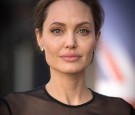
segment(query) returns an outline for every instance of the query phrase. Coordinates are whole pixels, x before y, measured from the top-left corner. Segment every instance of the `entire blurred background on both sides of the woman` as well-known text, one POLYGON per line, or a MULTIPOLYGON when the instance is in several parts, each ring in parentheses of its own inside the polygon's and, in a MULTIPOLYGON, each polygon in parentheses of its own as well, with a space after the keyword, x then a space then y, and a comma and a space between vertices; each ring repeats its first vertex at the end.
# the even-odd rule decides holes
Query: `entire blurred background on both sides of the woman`
MULTIPOLYGON (((105 22, 86 83, 99 93, 122 97, 134 105, 135 1, 100 1, 105 22)), ((31 90, 49 80, 49 68, 37 50, 34 34, 32 13, 37 2, 0 1, 0 96, 31 90)))

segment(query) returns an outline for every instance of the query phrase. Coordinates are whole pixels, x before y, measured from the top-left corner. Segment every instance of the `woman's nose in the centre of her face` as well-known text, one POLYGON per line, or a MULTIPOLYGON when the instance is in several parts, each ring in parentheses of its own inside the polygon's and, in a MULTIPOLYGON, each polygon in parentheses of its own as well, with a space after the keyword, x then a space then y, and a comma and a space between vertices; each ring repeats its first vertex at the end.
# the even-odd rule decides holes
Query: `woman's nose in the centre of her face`
POLYGON ((77 39, 73 33, 69 33, 67 36, 65 36, 65 48, 77 48, 77 39))

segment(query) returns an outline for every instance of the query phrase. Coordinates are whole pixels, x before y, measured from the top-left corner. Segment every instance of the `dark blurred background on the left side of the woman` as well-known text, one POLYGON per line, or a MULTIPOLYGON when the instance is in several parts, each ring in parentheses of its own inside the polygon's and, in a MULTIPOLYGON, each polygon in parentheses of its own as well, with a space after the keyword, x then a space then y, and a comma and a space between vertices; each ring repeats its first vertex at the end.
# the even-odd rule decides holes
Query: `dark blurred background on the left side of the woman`
POLYGON ((32 14, 36 3, 0 1, 0 95, 30 90, 49 80, 48 66, 35 40, 32 14))

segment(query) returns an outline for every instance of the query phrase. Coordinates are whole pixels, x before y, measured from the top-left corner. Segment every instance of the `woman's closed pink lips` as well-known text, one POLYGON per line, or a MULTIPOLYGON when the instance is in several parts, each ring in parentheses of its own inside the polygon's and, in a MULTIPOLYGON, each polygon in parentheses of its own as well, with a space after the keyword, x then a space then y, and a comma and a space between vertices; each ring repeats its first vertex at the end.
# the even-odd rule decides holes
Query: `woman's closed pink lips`
POLYGON ((78 54, 64 54, 60 56, 62 60, 67 62, 77 61, 81 56, 78 54))

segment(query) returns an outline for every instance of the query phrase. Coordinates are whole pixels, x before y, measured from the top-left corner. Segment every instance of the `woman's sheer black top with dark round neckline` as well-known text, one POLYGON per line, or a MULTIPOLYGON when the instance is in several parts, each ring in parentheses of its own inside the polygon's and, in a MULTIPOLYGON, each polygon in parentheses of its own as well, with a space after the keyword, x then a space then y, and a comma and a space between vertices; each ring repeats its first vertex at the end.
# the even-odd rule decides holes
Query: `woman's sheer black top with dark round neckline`
POLYGON ((44 87, 11 93, 0 100, 0 115, 135 115, 133 107, 121 98, 92 94, 92 100, 73 106, 54 99, 44 87))

